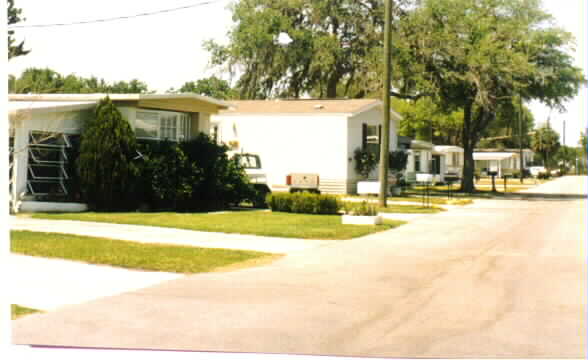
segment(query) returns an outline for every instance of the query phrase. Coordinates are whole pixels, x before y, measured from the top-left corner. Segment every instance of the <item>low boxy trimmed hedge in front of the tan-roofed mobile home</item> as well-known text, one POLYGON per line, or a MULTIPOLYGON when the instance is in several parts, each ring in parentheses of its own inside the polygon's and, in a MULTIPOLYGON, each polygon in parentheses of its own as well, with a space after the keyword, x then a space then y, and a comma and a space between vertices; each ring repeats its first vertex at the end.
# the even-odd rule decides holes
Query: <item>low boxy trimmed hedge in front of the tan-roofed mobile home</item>
POLYGON ((307 192, 269 194, 266 202, 272 211, 298 214, 333 215, 338 214, 341 208, 335 196, 307 192))

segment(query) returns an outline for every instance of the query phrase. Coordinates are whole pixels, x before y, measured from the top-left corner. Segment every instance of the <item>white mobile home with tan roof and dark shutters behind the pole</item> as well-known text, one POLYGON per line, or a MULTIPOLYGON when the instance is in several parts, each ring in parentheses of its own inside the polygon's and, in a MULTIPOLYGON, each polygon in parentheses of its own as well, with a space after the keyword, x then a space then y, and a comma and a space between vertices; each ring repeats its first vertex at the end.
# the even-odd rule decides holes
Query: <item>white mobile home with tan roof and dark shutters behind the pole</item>
MULTIPOLYGON (((272 191, 286 191, 291 173, 319 175, 323 193, 355 193, 357 148, 379 152, 384 118, 382 102, 360 100, 231 101, 212 116, 211 134, 232 150, 261 157, 272 191)), ((396 149, 391 111, 390 150, 396 149)), ((377 169, 370 175, 376 178, 377 169)))

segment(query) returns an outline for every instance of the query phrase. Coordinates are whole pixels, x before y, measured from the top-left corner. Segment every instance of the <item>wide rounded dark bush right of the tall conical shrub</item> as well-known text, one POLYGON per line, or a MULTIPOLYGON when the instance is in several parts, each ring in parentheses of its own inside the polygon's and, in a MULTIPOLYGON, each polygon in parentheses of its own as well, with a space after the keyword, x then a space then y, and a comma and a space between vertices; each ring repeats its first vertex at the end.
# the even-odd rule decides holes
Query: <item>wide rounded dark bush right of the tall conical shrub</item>
POLYGON ((193 140, 142 142, 136 196, 152 209, 211 211, 252 197, 244 169, 207 135, 193 140))

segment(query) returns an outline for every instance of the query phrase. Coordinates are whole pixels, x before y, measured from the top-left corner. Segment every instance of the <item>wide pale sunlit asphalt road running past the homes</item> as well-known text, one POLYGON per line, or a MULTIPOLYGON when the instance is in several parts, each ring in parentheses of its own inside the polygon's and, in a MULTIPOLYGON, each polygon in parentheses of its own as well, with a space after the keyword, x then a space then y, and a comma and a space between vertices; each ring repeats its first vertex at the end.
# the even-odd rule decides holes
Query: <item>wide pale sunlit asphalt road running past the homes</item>
POLYGON ((12 322, 13 342, 585 357, 587 180, 558 179, 533 191, 551 196, 480 201, 260 268, 188 276, 28 316, 12 322))

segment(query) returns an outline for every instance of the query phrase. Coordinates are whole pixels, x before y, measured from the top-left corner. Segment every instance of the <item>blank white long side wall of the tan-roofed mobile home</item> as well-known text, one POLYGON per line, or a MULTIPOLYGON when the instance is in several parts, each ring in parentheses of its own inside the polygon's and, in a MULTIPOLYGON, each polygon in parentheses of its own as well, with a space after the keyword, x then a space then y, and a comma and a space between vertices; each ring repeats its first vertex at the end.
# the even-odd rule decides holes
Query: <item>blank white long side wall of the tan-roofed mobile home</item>
POLYGON ((220 141, 238 140, 239 151, 260 155, 274 190, 286 185, 289 173, 318 173, 321 182, 346 178, 343 116, 213 115, 212 121, 220 141))

